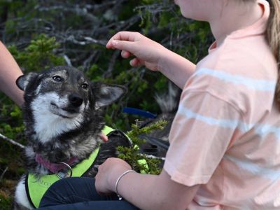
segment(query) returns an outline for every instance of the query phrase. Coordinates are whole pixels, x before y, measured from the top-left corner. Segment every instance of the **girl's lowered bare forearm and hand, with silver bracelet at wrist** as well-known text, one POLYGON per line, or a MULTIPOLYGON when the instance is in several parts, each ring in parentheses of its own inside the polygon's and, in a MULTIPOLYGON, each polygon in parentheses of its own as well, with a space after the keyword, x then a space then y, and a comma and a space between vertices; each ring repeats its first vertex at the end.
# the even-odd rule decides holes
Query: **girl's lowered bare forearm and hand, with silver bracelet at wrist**
MULTIPOLYGON (((97 192, 116 193, 116 181, 127 169, 123 160, 107 159, 95 177, 97 192)), ((130 172, 118 182, 118 193, 140 209, 187 209, 199 187, 176 183, 165 170, 158 176, 130 172)))

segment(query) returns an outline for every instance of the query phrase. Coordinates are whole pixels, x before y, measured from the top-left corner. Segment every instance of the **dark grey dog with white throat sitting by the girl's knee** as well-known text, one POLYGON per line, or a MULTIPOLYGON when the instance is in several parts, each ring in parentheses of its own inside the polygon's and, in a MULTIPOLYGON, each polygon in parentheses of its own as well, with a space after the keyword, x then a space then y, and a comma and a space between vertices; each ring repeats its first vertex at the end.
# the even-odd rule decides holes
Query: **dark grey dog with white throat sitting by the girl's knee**
MULTIPOLYGON (((89 158, 102 142, 102 107, 126 92, 120 85, 90 82, 81 71, 69 66, 27 73, 16 83, 25 92, 22 109, 27 172, 38 180, 45 174, 67 176, 69 168, 89 158)), ((106 144, 101 144, 94 166, 116 157, 116 146, 120 145, 130 146, 130 142, 121 133, 109 137, 106 144)), ((92 167, 86 176, 96 173, 96 167, 92 167)), ((27 197, 25 178, 22 177, 15 190, 15 209, 34 208, 27 197)))

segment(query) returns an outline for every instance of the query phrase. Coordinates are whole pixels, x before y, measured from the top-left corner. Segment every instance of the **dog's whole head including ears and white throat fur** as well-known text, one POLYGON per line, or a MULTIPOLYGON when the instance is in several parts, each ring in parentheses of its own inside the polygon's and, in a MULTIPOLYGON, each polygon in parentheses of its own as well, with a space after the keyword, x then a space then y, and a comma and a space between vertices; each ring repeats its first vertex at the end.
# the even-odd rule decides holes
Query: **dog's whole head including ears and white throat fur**
POLYGON ((25 111, 31 112, 27 121, 34 120, 41 141, 81 128, 90 118, 101 123, 100 108, 126 92, 120 85, 91 82, 82 71, 69 66, 27 73, 16 83, 25 92, 25 111))

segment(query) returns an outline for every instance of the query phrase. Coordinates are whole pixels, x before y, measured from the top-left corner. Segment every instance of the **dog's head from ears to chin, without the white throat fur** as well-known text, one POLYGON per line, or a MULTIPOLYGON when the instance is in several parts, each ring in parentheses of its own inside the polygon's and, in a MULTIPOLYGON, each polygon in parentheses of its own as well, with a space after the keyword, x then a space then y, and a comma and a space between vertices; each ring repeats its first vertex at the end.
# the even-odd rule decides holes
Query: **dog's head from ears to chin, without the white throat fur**
MULTIPOLYGON (((51 113, 62 118, 73 118, 87 106, 99 109, 120 98, 125 87, 93 83, 83 72, 69 66, 57 66, 42 73, 27 73, 16 81, 25 91, 25 101, 41 97, 51 113)), ((43 105, 43 104, 42 104, 43 105)))

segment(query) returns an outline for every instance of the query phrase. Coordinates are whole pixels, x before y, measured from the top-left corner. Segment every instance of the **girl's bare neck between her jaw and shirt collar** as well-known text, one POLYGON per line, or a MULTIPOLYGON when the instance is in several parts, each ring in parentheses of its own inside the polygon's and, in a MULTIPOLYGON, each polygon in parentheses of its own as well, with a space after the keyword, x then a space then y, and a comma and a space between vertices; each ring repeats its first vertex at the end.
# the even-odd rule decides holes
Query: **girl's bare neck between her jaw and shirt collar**
POLYGON ((243 29, 262 17, 262 7, 257 1, 237 2, 228 1, 223 6, 220 14, 214 15, 209 20, 211 31, 217 42, 217 46, 223 43, 226 36, 233 31, 243 29))

